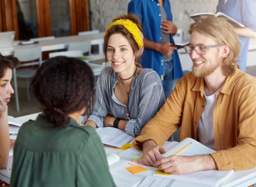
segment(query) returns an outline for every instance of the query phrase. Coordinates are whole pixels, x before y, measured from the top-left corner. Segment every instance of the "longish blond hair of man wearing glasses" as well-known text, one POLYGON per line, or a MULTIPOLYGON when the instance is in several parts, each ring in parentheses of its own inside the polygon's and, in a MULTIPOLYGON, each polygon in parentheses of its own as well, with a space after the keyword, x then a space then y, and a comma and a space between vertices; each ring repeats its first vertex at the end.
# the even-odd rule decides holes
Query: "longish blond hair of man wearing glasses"
POLYGON ((235 69, 239 68, 237 62, 239 61, 238 55, 241 48, 239 36, 234 27, 225 19, 207 17, 191 24, 188 33, 191 34, 194 30, 214 39, 217 44, 227 44, 230 47, 230 53, 223 58, 222 70, 223 75, 232 75, 235 69))

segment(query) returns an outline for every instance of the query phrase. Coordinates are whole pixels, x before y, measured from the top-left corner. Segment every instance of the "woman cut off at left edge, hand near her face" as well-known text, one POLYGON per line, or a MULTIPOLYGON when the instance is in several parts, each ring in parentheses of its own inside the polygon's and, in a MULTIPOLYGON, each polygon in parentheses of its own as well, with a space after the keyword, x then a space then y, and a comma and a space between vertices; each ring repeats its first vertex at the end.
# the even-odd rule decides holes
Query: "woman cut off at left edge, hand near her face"
POLYGON ((14 93, 10 84, 12 69, 18 64, 16 57, 4 57, 0 54, 0 169, 6 168, 9 150, 14 143, 9 135, 7 103, 10 102, 10 95, 14 93))

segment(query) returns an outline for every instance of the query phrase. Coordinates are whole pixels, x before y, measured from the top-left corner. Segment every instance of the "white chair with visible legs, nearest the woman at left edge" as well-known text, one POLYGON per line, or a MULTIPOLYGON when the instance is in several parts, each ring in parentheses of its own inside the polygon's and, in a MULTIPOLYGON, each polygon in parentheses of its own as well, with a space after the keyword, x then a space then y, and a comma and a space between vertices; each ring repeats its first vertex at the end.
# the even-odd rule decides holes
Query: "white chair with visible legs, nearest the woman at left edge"
POLYGON ((19 48, 15 49, 14 54, 15 57, 19 59, 20 62, 23 62, 19 69, 13 69, 12 70, 12 77, 15 87, 15 101, 16 101, 16 109, 17 112, 19 112, 19 97, 18 97, 18 89, 17 89, 17 78, 26 78, 26 92, 28 96, 28 100, 30 100, 29 96, 29 83, 28 78, 32 78, 35 73, 36 69, 33 69, 28 66, 34 66, 34 65, 41 65, 42 64, 42 51, 41 46, 33 47, 33 48, 19 48), (28 62, 28 61, 35 61, 36 62, 28 62), (24 68, 28 67, 28 68, 24 68), (20 69, 22 68, 22 69, 20 69))

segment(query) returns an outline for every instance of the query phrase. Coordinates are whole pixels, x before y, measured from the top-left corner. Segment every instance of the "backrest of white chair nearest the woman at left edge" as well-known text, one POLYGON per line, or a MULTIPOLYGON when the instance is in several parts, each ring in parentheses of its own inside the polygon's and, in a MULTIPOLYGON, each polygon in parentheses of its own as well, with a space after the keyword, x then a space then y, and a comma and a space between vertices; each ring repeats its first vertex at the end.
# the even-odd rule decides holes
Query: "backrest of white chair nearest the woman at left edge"
POLYGON ((17 48, 15 49, 13 55, 17 57, 20 62, 39 60, 38 62, 30 62, 30 63, 22 64, 21 66, 32 66, 35 64, 41 65, 42 63, 41 46, 29 47, 29 48, 17 48))

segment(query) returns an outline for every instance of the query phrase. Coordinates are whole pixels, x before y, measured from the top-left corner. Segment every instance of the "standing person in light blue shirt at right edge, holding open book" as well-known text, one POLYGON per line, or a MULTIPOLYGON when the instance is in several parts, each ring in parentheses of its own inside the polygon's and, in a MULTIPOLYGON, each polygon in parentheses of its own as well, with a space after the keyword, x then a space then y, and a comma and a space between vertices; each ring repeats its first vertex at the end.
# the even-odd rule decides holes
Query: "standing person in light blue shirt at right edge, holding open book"
POLYGON ((256 37, 256 1, 219 0, 217 12, 223 12, 246 26, 246 28, 235 28, 241 43, 239 69, 241 69, 241 71, 246 71, 250 37, 256 37))

